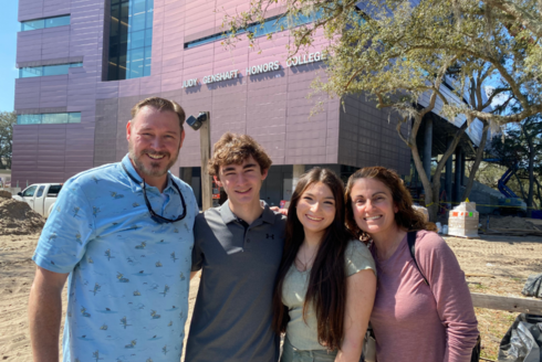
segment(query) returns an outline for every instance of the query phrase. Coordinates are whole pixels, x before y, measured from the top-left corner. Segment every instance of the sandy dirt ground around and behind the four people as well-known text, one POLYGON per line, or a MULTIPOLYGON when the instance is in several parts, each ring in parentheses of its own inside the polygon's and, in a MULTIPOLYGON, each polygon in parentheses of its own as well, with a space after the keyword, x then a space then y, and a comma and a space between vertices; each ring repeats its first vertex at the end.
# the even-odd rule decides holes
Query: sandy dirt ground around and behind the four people
MULTIPOLYGON (((540 221, 535 221, 540 223, 540 221)), ((542 224, 542 223, 540 223, 542 224)), ((0 360, 31 361, 27 306, 34 274, 31 256, 39 234, 0 235, 0 360)), ((468 277, 471 291, 522 297, 530 274, 542 272, 542 237, 482 236, 476 239, 446 237, 468 277), (491 277, 489 277, 491 276, 491 277)), ((190 285, 190 315, 199 278, 190 285)), ((65 305, 65 296, 64 296, 65 305)), ((501 338, 514 313, 476 310, 482 337, 482 356, 497 360, 501 338)), ((187 323, 188 326, 188 323, 187 323)))

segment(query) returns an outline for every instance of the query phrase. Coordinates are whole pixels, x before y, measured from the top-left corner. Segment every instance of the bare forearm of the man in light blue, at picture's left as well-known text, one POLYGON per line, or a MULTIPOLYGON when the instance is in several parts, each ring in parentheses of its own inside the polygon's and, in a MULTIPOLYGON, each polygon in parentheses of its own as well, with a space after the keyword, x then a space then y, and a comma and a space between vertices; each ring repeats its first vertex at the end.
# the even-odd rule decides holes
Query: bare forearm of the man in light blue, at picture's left
POLYGON ((62 289, 67 274, 37 267, 30 289, 29 324, 34 362, 59 361, 62 289))

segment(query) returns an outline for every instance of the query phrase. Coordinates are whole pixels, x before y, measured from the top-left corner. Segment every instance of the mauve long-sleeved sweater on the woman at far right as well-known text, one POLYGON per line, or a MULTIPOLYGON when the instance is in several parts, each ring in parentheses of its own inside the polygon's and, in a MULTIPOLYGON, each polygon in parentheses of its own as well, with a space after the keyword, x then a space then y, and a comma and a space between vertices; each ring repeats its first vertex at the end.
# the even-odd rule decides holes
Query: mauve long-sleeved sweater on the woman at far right
POLYGON ((446 242, 432 232, 417 234, 416 260, 429 286, 406 236, 387 260, 372 251, 378 278, 371 315, 377 361, 470 362, 478 322, 465 274, 446 242))

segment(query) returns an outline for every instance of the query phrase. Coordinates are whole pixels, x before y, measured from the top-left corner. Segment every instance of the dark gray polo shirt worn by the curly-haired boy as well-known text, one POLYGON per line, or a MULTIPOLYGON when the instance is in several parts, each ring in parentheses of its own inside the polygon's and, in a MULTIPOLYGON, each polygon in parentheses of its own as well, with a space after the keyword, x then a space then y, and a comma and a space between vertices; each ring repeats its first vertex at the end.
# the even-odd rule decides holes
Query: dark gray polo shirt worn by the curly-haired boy
POLYGON ((285 216, 268 206, 251 225, 228 201, 196 217, 191 270, 202 273, 186 362, 279 360, 271 321, 284 231, 285 216))

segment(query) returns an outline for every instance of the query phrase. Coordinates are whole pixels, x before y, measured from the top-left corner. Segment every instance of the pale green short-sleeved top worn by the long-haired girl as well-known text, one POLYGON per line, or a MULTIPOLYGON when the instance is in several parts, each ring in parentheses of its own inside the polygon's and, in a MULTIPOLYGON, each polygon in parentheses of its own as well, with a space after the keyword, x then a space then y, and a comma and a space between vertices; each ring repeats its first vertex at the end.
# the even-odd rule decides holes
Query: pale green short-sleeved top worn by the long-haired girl
MULTIPOLYGON (((365 269, 373 269, 376 274, 375 260, 362 242, 351 241, 344 256, 346 277, 365 269)), ((310 269, 299 272, 292 264, 282 284, 282 302, 288 307, 290 316, 286 336, 290 343, 299 350, 325 350, 325 347, 319 343, 316 315, 312 305, 308 306, 303 320, 303 304, 310 275, 310 269)))

